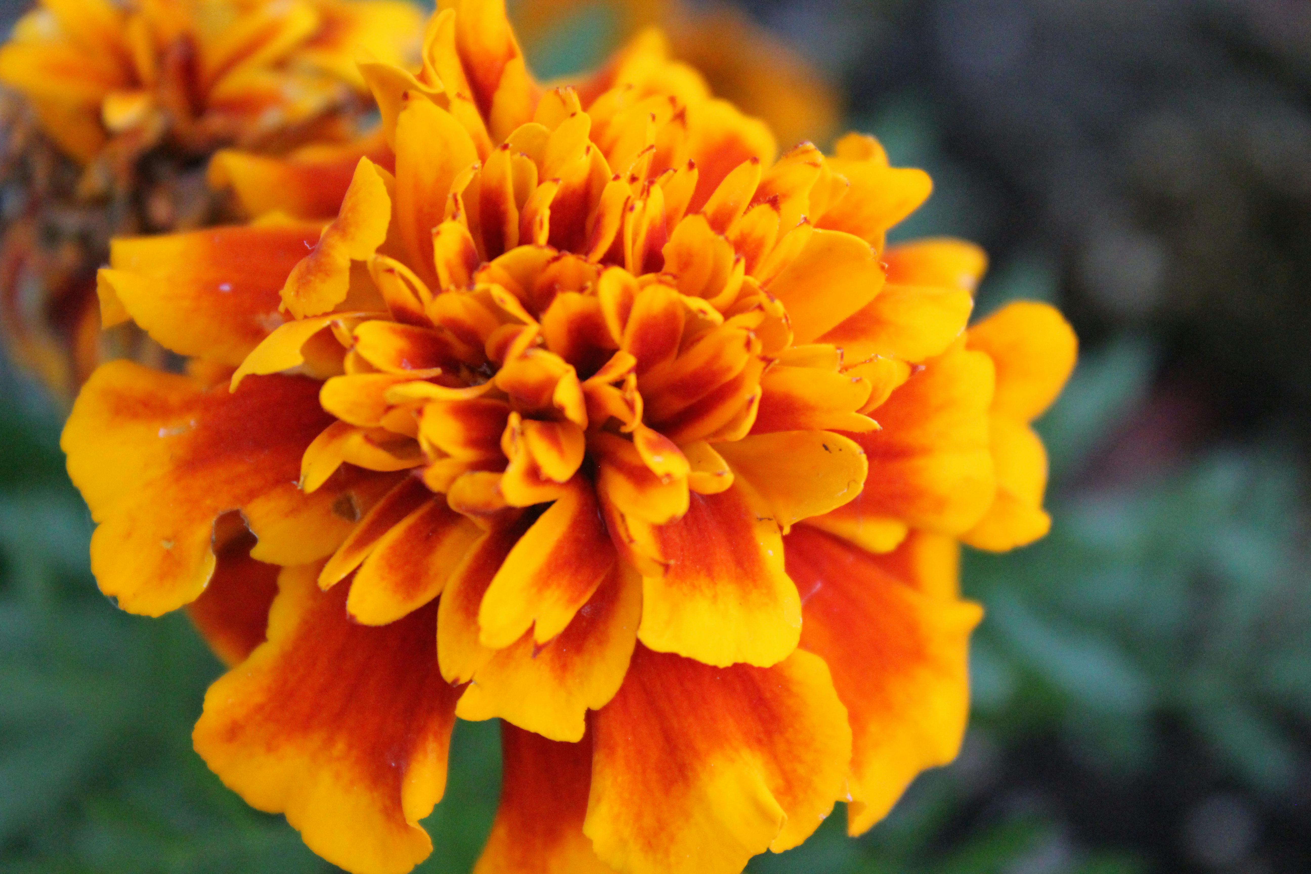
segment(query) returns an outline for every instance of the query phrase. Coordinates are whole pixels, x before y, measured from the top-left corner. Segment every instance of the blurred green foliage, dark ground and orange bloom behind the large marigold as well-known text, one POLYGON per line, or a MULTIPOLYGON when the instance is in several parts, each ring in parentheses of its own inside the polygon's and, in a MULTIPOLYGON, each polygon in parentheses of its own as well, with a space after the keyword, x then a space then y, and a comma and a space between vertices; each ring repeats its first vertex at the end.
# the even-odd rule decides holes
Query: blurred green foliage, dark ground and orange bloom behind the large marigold
MULTIPOLYGON (((663 20, 797 136, 877 135, 936 181, 898 236, 982 242, 978 313, 1050 300, 1083 339, 1038 426, 1051 536, 966 557, 987 618, 960 760, 863 839, 834 816, 749 870, 1311 871, 1311 3, 519 7, 544 75, 663 20)), ((97 594, 62 411, 12 368, 0 398, 0 870, 329 870, 191 752, 218 662, 97 594)), ((469 870, 497 756, 459 726, 423 874, 469 870)))

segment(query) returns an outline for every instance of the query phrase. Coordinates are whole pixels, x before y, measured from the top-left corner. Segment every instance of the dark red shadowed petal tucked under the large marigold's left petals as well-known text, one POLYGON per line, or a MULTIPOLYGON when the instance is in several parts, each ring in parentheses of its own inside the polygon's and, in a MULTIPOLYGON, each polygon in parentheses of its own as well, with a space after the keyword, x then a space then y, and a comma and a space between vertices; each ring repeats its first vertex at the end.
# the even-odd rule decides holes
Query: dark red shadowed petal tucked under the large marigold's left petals
POLYGON ((210 584, 186 605, 201 637, 229 667, 264 643, 269 605, 278 594, 281 569, 250 558, 254 542, 245 535, 219 549, 210 584))

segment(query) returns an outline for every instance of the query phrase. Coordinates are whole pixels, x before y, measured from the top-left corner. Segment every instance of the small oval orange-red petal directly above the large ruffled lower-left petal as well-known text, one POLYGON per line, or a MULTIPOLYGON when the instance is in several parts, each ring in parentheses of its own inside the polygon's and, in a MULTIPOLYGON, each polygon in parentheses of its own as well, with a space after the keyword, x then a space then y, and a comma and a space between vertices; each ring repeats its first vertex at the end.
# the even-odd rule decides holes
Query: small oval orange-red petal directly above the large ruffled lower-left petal
POLYGON ((387 625, 437 598, 481 531, 430 497, 378 540, 355 573, 346 611, 357 622, 387 625))

